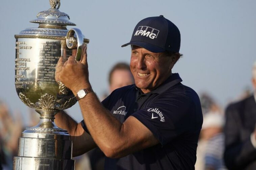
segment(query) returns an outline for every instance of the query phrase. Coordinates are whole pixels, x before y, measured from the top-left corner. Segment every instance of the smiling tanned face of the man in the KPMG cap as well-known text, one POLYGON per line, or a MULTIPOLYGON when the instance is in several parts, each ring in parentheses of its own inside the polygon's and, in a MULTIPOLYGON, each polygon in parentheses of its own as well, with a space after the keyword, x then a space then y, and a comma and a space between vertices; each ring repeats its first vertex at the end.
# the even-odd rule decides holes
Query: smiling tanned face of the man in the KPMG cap
POLYGON ((157 88, 170 75, 174 62, 163 53, 152 53, 149 50, 132 46, 130 69, 135 84, 143 93, 157 88))

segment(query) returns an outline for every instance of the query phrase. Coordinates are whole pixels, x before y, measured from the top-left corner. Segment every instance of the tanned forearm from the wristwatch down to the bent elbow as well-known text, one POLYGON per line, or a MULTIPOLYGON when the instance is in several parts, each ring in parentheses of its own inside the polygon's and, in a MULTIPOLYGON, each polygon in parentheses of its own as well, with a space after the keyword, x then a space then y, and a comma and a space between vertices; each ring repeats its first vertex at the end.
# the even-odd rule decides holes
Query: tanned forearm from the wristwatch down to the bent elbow
POLYGON ((111 155, 108 151, 121 145, 123 124, 102 106, 95 93, 88 93, 79 100, 79 105, 93 139, 105 155, 111 155))

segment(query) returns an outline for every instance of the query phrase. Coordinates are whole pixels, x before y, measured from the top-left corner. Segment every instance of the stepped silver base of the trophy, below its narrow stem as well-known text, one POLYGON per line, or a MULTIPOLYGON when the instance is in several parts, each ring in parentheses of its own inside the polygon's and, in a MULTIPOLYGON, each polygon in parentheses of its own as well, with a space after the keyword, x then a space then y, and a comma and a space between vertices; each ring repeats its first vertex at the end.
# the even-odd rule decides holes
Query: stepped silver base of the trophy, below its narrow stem
POLYGON ((27 128, 22 133, 13 169, 74 170, 72 141, 67 131, 59 128, 38 128, 39 125, 27 128))

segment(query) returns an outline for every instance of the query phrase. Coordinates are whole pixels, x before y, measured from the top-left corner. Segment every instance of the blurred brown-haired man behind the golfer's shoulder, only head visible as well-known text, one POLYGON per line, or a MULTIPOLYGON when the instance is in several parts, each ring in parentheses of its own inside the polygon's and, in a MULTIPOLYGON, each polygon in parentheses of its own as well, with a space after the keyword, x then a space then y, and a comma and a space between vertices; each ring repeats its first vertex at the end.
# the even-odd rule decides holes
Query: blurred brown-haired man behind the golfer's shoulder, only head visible
POLYGON ((134 79, 128 64, 117 63, 111 68, 108 76, 109 93, 133 83, 134 79))

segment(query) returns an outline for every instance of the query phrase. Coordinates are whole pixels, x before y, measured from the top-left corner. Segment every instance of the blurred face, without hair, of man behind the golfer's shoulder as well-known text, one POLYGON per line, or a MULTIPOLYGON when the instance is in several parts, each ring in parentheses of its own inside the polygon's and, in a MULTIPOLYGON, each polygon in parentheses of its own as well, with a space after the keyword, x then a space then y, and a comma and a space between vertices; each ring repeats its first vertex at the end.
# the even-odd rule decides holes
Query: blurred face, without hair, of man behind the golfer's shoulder
POLYGON ((130 70, 117 69, 114 70, 110 77, 109 92, 133 84, 134 80, 130 70))

